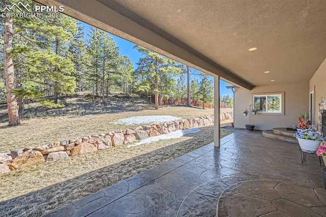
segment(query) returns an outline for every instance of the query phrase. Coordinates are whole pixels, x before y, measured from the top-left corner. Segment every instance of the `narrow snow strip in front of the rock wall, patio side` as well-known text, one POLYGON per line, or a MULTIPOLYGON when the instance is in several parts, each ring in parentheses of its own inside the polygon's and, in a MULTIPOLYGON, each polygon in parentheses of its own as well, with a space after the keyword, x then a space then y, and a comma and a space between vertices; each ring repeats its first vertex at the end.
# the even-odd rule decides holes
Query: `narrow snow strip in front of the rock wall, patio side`
POLYGON ((157 137, 149 137, 145 140, 142 140, 138 143, 132 144, 132 145, 128 145, 127 148, 133 147, 133 146, 139 146, 139 145, 143 145, 143 144, 149 144, 152 142, 157 142, 159 140, 169 140, 169 139, 176 139, 176 138, 180 138, 183 137, 183 135, 186 135, 188 133, 196 133, 199 132, 200 129, 199 127, 195 127, 195 128, 191 128, 191 129, 182 129, 182 130, 176 130, 174 132, 171 132, 169 134, 161 134, 161 135, 157 135, 157 137))

